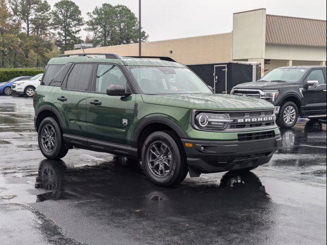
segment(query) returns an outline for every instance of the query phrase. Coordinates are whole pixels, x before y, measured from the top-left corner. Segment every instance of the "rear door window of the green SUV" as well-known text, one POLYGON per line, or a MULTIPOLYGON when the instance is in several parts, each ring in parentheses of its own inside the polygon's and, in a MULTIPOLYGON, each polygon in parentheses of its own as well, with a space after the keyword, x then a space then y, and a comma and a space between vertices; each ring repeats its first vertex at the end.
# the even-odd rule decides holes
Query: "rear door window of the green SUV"
POLYGON ((87 91, 91 83, 92 64, 75 64, 67 78, 67 89, 87 91))

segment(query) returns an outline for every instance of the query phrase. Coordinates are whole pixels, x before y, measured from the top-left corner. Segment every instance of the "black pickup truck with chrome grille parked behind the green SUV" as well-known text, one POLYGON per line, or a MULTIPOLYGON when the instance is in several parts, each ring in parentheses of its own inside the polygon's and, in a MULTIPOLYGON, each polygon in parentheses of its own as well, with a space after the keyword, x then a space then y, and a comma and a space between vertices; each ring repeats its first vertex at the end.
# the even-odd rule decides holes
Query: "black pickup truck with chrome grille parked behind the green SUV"
POLYGON ((231 94, 253 96, 271 102, 281 128, 292 128, 297 117, 326 116, 326 66, 285 66, 262 79, 241 83, 231 94))

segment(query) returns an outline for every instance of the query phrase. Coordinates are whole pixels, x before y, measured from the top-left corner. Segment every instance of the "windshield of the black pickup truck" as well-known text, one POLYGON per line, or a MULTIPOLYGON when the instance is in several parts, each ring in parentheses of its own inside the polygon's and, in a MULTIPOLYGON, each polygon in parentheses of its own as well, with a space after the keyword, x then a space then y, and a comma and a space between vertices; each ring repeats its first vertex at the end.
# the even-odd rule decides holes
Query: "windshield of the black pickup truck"
POLYGON ((305 75, 305 68, 276 68, 262 77, 259 81, 266 82, 297 82, 305 75))

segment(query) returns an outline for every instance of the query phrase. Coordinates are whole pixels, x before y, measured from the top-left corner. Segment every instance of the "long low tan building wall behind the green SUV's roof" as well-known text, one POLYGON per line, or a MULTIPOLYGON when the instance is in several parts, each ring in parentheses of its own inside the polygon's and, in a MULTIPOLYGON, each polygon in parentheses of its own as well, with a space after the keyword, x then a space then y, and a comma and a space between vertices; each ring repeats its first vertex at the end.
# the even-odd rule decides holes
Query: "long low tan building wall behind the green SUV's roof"
MULTIPOLYGON (((189 64, 228 62, 232 60, 232 33, 180 38, 142 43, 143 56, 165 56, 189 64), (172 53, 170 53, 172 51, 172 53)), ((87 48, 85 53, 115 53, 120 56, 138 56, 138 43, 87 48)), ((81 53, 81 50, 65 54, 81 53)))

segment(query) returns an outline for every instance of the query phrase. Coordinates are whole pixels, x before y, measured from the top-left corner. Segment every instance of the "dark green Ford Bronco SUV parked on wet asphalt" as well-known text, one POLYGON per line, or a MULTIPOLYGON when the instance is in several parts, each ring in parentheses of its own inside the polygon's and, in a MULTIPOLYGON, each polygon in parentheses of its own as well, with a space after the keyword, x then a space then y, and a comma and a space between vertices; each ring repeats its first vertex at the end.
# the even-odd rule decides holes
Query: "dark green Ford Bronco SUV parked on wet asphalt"
POLYGON ((34 95, 42 154, 73 147, 142 161, 155 184, 189 173, 250 170, 281 145, 269 102, 214 94, 167 57, 62 55, 49 61, 34 95))

